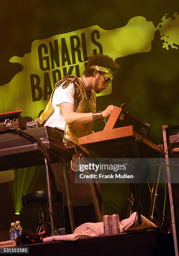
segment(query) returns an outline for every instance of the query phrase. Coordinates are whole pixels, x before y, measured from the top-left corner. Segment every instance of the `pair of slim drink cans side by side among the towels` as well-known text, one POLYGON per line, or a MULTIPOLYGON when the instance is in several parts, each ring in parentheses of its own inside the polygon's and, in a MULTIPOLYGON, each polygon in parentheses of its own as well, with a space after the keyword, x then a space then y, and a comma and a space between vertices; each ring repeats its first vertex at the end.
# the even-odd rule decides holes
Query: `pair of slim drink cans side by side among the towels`
POLYGON ((103 215, 104 234, 120 233, 119 214, 103 215))

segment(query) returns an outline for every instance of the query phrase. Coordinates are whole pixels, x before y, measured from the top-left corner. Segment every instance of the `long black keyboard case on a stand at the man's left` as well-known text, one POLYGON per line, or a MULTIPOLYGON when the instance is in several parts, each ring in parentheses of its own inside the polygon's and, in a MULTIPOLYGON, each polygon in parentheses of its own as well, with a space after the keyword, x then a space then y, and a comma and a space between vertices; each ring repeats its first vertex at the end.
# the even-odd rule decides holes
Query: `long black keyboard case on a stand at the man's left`
MULTIPOLYGON (((60 131, 52 127, 23 130, 37 137, 47 148, 52 163, 71 159, 60 131)), ((0 171, 44 164, 44 156, 37 141, 15 131, 0 133, 0 171)))

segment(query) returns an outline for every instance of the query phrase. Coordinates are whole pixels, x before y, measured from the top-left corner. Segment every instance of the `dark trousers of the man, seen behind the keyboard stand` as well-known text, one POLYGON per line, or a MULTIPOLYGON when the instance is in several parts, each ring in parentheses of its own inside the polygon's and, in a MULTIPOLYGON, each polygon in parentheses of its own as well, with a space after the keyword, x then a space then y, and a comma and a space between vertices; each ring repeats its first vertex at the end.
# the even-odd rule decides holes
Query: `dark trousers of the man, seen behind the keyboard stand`
MULTIPOLYGON (((70 219, 67 209, 67 200, 65 193, 65 183, 62 172, 62 164, 52 164, 53 174, 55 176, 55 184, 57 191, 62 192, 63 210, 65 220, 66 233, 72 233, 70 219)), ((78 184, 74 181, 74 171, 71 165, 68 165, 67 173, 69 175, 69 187, 71 192, 73 214, 75 221, 75 228, 86 222, 101 221, 101 213, 99 210, 99 201, 101 195, 99 194, 96 184, 78 184)), ((56 217, 57 218, 57 217, 56 217)))

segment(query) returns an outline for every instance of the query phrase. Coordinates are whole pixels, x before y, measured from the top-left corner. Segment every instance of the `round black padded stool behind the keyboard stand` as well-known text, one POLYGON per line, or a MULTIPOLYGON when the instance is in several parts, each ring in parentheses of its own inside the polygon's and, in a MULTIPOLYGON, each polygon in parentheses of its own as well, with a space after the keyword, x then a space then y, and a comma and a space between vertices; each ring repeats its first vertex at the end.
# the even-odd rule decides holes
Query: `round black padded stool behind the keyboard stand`
MULTIPOLYGON (((34 234, 40 233, 45 230, 45 220, 46 220, 45 208, 47 207, 47 201, 48 201, 47 192, 43 190, 22 195, 23 206, 40 208, 39 223, 35 228, 34 234)), ((55 202, 62 203, 61 192, 56 193, 55 202)))

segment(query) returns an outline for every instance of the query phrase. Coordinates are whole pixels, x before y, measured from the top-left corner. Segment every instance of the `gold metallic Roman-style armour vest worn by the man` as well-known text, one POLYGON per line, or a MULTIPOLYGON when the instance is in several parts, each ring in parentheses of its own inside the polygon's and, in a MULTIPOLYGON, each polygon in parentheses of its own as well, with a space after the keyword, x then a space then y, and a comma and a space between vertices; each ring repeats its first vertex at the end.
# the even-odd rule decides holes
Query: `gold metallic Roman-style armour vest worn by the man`
MULTIPOLYGON (((78 113, 91 113, 96 111, 96 93, 94 90, 90 90, 88 92, 85 91, 84 84, 82 80, 76 76, 66 76, 56 82, 55 89, 60 86, 62 83, 62 88, 67 88, 70 83, 74 83, 74 108, 75 112, 78 113)), ((44 112, 40 115, 39 118, 35 119, 40 124, 44 124, 45 121, 52 115, 54 109, 52 106, 52 97, 55 89, 52 92, 49 102, 44 110, 44 112)), ((84 123, 80 125, 65 125, 65 133, 64 138, 69 141, 72 141, 74 144, 78 144, 78 138, 82 136, 89 135, 92 133, 93 122, 84 123)))

